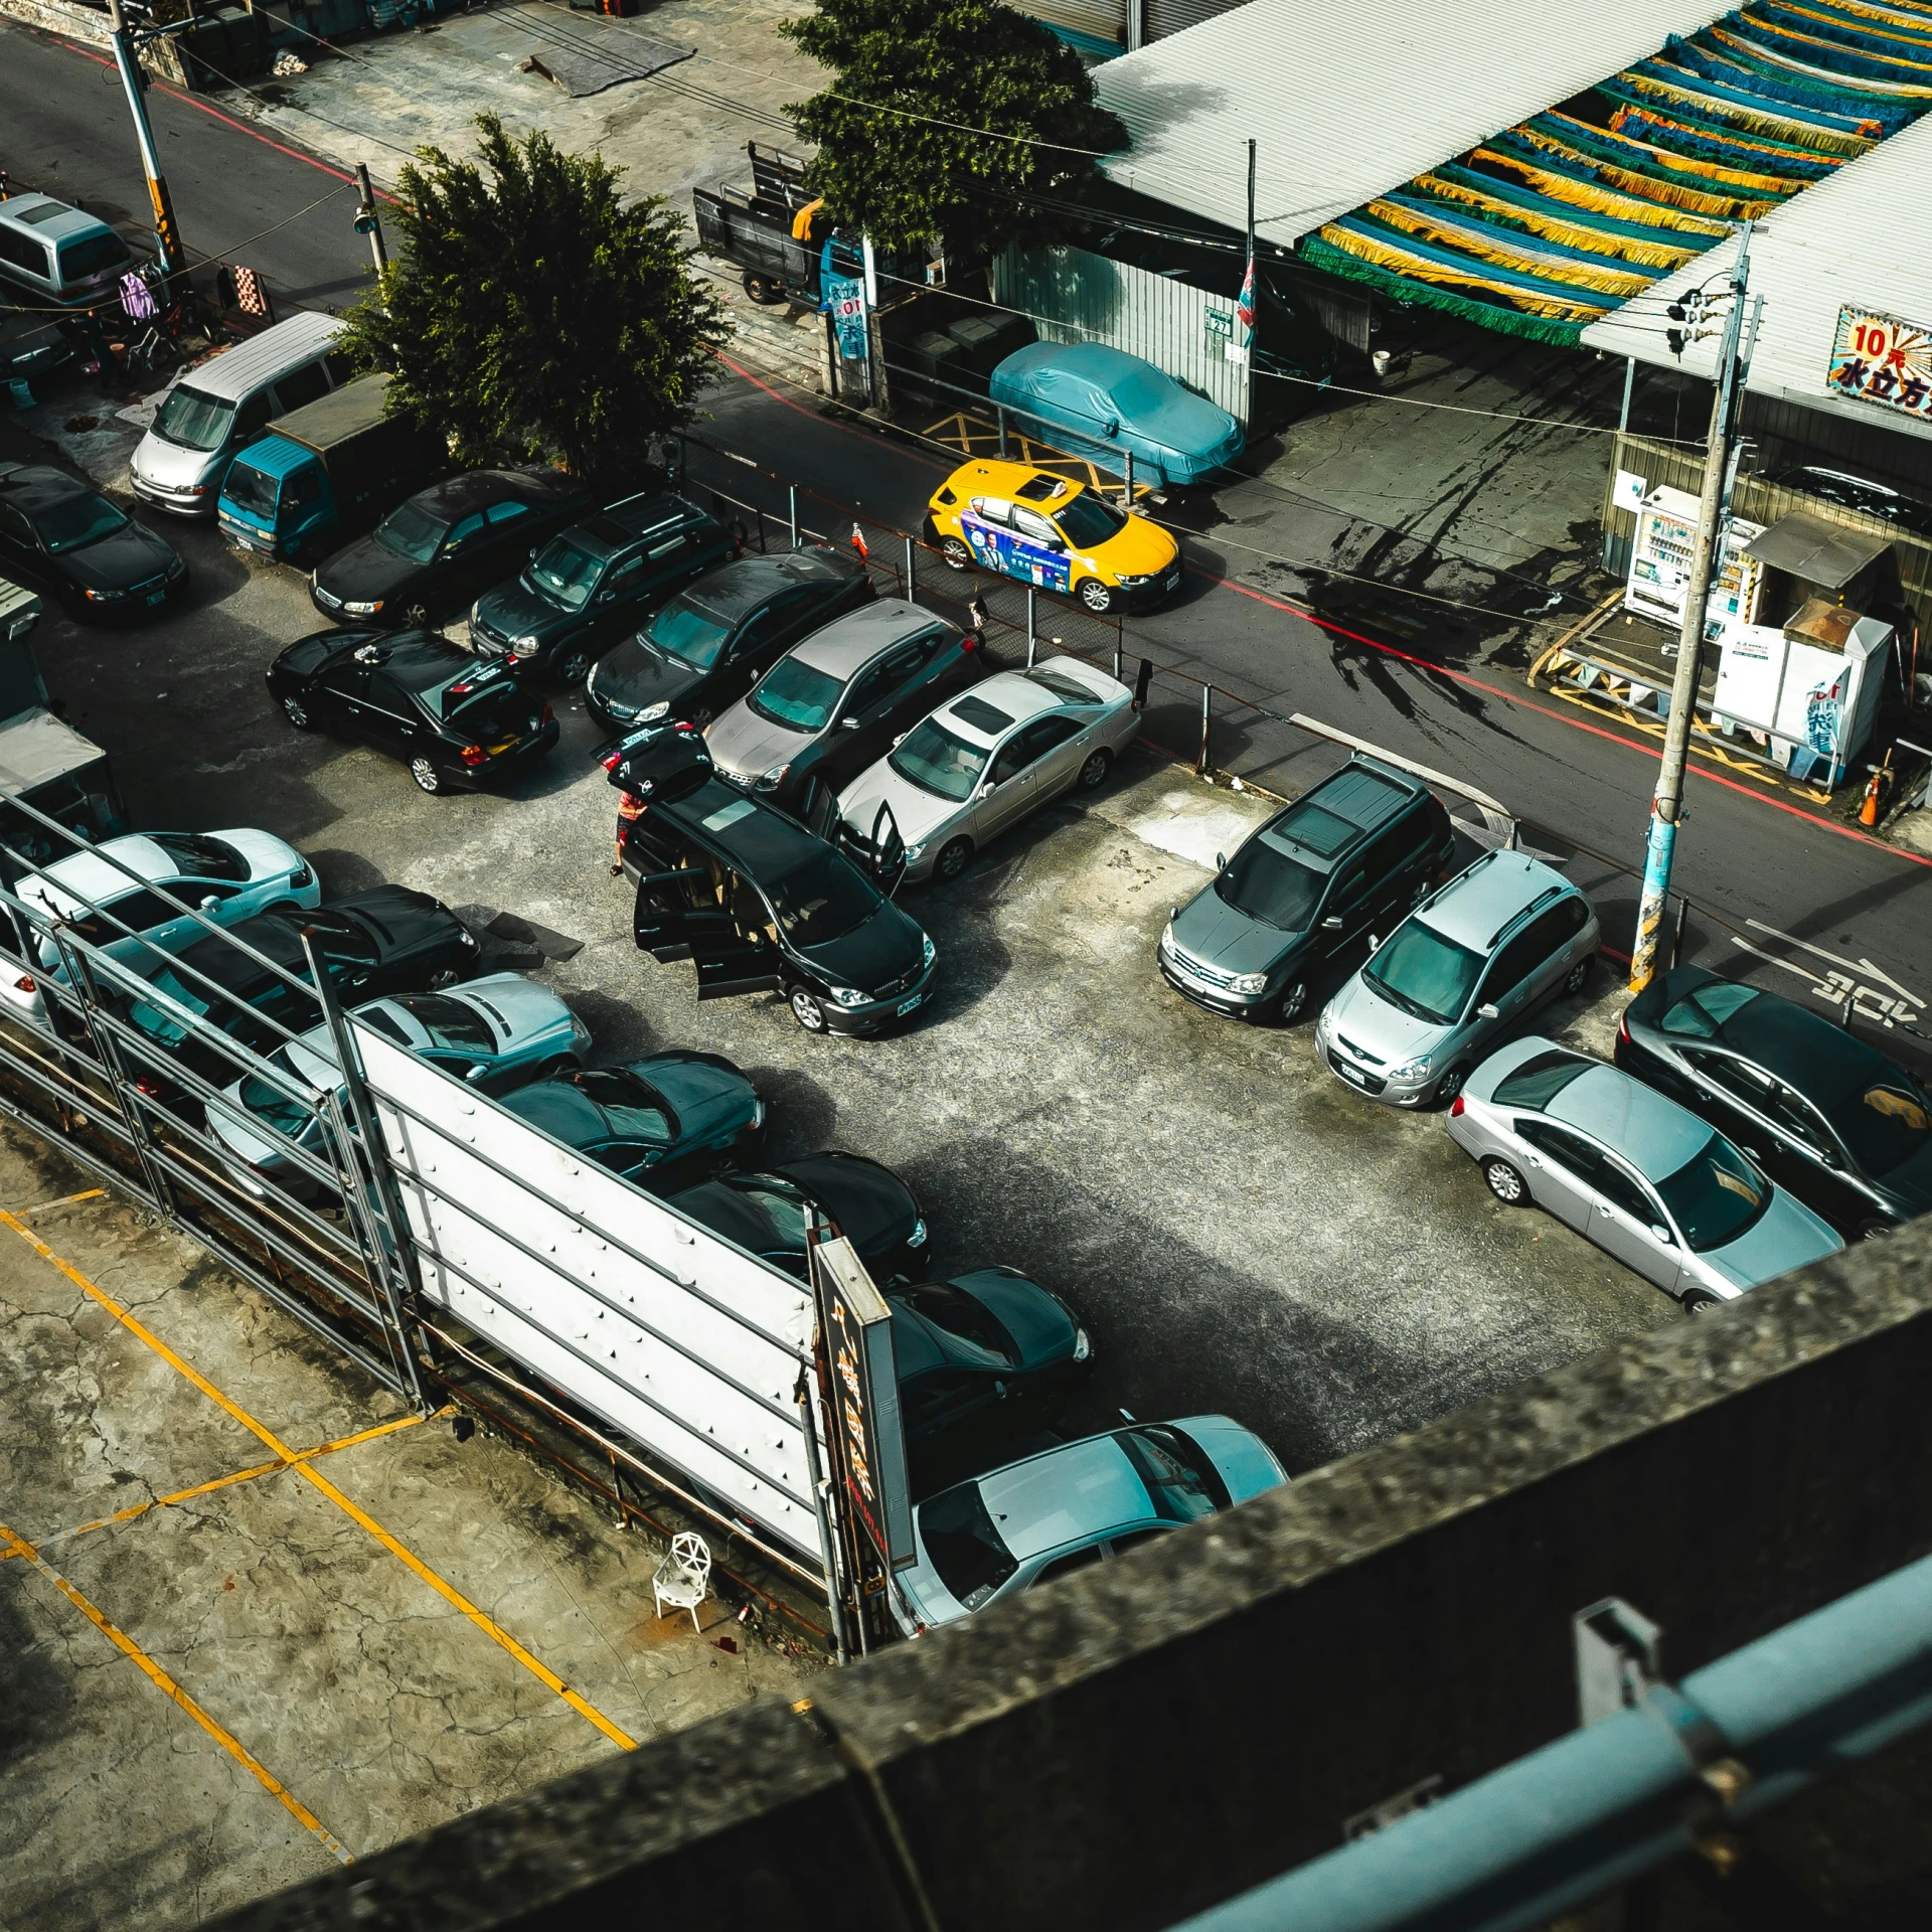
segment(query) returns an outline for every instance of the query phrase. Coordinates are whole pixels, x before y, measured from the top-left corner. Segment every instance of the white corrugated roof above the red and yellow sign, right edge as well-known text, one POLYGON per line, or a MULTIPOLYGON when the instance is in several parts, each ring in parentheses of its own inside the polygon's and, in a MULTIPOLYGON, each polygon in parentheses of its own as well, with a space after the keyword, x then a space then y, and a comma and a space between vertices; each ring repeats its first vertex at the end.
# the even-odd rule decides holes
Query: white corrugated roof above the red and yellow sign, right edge
MULTIPOLYGON (((1841 307, 1895 317, 1932 334, 1932 116, 1861 155, 1766 216, 1750 234, 1750 288, 1764 317, 1748 388, 1762 396, 1849 415, 1882 429, 1932 437, 1932 419, 1864 402, 1828 383, 1841 307)), ((1712 377, 1718 338, 1690 342, 1683 359, 1663 338, 1665 309, 1689 290, 1723 286, 1735 242, 1673 270, 1582 332, 1586 348, 1634 355, 1662 369, 1712 377)))

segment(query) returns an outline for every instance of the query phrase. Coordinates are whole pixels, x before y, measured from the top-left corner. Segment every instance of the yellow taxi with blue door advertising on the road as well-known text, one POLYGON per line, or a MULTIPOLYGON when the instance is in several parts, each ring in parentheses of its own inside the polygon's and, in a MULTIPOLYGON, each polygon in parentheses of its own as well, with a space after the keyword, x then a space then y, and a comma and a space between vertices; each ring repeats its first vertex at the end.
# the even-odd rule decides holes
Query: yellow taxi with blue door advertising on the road
POLYGON ((925 541, 954 570, 1065 591, 1101 616, 1180 589, 1180 545, 1159 524, 1032 464, 960 464, 925 508, 925 541))

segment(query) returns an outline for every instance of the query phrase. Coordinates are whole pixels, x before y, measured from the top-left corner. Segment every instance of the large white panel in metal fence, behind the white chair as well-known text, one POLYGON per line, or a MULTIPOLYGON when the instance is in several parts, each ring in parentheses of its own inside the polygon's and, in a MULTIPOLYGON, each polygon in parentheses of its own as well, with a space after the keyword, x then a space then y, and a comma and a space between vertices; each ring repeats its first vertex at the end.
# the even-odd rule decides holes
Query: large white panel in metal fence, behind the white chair
POLYGON ((817 1561, 810 1291, 354 1026, 423 1294, 817 1561))

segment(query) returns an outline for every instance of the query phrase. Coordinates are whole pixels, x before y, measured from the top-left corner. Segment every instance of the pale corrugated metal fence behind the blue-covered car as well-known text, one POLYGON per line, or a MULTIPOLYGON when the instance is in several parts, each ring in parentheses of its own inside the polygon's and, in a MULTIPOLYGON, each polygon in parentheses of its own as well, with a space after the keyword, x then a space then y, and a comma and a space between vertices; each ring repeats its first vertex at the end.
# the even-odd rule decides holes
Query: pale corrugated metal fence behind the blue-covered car
POLYGON ((1248 421, 1248 371, 1231 363, 1235 303, 1078 247, 993 259, 993 299, 1030 315, 1043 342, 1105 342, 1248 421))

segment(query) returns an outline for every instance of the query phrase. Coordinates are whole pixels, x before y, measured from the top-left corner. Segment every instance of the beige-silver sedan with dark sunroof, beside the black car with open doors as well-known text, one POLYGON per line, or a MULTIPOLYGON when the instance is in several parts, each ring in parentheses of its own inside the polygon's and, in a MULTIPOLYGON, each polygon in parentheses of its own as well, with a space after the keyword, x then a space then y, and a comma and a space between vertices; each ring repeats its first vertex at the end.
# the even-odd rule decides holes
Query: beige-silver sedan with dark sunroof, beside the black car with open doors
POLYGON ((989 838, 1061 792, 1092 792, 1140 726, 1134 694, 1078 657, 1001 670, 914 724, 838 796, 852 837, 881 811, 908 879, 956 879, 989 838))

